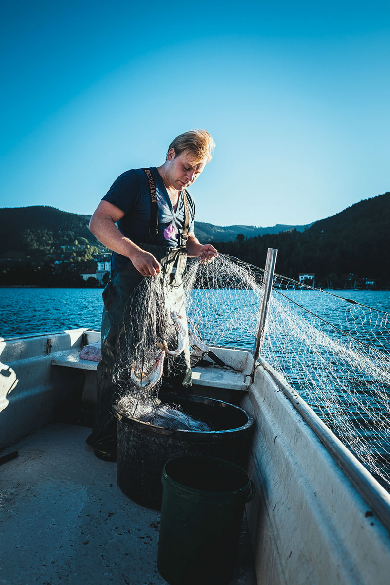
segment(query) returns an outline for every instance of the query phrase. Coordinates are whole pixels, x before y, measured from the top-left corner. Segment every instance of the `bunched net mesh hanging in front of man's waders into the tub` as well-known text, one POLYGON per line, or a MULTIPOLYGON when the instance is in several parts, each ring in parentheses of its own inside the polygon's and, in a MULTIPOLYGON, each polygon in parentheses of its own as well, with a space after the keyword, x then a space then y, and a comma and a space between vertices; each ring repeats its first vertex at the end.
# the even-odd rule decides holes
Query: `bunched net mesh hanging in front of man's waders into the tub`
POLYGON ((162 374, 175 377, 182 371, 182 352, 168 353, 178 348, 174 316, 187 329, 185 297, 176 292, 164 277, 144 278, 123 311, 113 381, 116 401, 131 417, 153 416, 162 374))

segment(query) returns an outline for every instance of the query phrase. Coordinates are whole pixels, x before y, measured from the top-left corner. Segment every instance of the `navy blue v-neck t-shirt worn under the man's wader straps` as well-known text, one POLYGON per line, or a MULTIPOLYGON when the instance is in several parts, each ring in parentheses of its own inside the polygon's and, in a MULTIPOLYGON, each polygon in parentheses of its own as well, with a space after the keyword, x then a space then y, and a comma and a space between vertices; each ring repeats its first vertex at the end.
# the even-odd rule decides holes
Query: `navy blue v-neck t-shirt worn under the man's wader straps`
MULTIPOLYGON (((184 200, 181 192, 176 212, 173 211, 163 178, 156 167, 150 167, 156 185, 158 205, 158 235, 154 243, 167 247, 177 247, 184 225, 184 200)), ((187 190, 186 190, 187 191, 187 190)), ((187 191, 189 228, 194 232, 194 199, 187 191)), ((150 191, 146 174, 141 168, 126 171, 111 185, 102 201, 108 201, 121 209, 125 215, 117 225, 126 238, 137 245, 149 242, 150 191)), ((154 226, 153 226, 154 227, 154 226)), ((122 270, 129 262, 126 256, 116 252, 112 256, 112 271, 122 270)))

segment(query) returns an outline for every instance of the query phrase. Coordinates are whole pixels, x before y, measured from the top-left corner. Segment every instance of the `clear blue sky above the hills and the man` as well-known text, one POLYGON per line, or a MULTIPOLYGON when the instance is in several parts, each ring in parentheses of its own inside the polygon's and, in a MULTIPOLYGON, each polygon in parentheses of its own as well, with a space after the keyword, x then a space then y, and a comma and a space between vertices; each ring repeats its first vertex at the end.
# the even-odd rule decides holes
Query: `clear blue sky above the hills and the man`
POLYGON ((308 223, 390 190, 388 2, 14 2, 0 207, 90 214, 172 138, 213 135, 196 219, 308 223))

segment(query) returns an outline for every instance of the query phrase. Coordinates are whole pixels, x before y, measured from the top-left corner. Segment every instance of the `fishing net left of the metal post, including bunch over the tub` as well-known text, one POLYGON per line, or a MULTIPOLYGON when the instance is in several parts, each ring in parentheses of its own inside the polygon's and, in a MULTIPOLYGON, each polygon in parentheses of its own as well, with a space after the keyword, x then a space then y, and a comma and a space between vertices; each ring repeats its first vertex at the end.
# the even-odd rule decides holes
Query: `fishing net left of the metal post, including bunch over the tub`
MULTIPOLYGON (((164 270, 161 277, 144 278, 119 329, 113 369, 119 409, 140 420, 157 417, 161 386, 182 375, 186 358, 192 366, 202 360, 203 344, 247 347, 256 330, 261 277, 218 256, 210 263, 189 259, 180 284, 172 284, 164 270)), ((164 426, 172 428, 169 418, 164 426)))

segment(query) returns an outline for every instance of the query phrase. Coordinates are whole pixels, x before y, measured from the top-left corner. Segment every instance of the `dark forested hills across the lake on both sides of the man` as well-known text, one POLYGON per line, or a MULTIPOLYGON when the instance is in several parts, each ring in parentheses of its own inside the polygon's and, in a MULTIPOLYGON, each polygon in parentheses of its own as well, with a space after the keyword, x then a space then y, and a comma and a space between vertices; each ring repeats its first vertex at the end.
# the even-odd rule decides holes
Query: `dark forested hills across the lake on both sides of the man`
MULTIPOLYGON (((44 206, 0 209, 0 284, 39 282, 43 268, 56 282, 60 269, 61 282, 94 269, 108 250, 89 232, 89 218, 44 206)), ((302 229, 195 222, 199 240, 256 266, 264 266, 268 247, 277 248, 277 272, 295 280, 299 273, 314 272, 320 286, 331 281, 343 287, 348 280, 368 278, 378 287, 390 287, 390 192, 302 229)))

